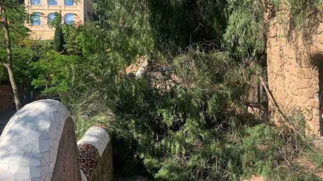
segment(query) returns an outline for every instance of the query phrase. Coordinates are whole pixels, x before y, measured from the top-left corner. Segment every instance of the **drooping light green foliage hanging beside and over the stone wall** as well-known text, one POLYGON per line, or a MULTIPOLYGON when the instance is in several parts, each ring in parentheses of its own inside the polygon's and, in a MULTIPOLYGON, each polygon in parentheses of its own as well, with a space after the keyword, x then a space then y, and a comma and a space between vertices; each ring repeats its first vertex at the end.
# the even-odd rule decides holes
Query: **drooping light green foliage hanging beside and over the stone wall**
MULTIPOLYGON (((292 27, 303 28, 314 26, 318 18, 319 0, 271 0, 276 18, 279 18, 281 7, 290 9, 289 23, 292 27)), ((263 1, 232 0, 228 1, 229 20, 223 36, 223 47, 237 56, 247 57, 265 53, 266 24, 263 1)))

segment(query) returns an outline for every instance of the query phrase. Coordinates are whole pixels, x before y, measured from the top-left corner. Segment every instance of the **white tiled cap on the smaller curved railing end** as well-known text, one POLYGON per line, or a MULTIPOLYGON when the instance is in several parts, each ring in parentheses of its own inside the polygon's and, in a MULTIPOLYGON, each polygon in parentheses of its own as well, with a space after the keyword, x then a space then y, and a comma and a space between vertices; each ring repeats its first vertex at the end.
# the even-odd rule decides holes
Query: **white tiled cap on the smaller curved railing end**
POLYGON ((102 128, 94 127, 90 128, 85 132, 82 138, 77 142, 77 145, 80 144, 90 144, 93 145, 100 156, 102 156, 107 143, 109 143, 110 137, 109 134, 102 128))

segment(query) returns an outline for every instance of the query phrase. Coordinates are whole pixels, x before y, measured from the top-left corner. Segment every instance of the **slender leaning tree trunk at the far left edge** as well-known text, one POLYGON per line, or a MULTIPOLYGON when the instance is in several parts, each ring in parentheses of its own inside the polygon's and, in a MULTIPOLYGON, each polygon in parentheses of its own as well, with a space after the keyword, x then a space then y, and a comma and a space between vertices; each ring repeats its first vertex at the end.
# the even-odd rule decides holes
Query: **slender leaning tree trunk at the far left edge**
POLYGON ((15 99, 15 104, 16 104, 16 109, 17 111, 21 108, 21 103, 19 99, 19 91, 18 91, 18 86, 15 81, 15 73, 13 70, 13 62, 12 62, 12 49, 11 49, 11 40, 10 40, 10 33, 9 33, 9 26, 8 26, 8 19, 6 17, 6 11, 5 7, 0 4, 0 12, 2 15, 1 23, 3 24, 3 29, 5 31, 5 40, 6 40, 6 48, 7 48, 7 53, 8 53, 8 62, 3 63, 3 65, 8 69, 9 73, 9 80, 10 84, 12 87, 14 99, 15 99))

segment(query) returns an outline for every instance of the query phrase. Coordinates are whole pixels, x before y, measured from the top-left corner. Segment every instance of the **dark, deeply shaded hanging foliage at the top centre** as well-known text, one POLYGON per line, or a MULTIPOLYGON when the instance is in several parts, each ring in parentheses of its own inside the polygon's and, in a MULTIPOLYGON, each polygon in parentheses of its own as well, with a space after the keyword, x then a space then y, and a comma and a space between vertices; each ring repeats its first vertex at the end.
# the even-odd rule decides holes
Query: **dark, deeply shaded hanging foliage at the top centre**
MULTIPOLYGON (((155 44, 185 49, 210 41, 219 46, 227 24, 227 1, 147 1, 155 44), (185 33, 184 33, 185 32, 185 33)), ((176 51, 176 49, 175 49, 176 51)))

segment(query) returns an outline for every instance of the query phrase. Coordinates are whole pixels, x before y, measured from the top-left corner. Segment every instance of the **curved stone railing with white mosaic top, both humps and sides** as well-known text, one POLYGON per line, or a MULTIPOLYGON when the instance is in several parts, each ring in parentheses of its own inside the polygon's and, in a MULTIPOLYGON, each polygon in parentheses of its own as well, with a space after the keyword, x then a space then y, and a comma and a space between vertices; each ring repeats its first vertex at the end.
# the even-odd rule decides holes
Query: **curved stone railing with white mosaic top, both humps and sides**
POLYGON ((104 127, 76 143, 65 106, 41 100, 24 106, 0 136, 0 180, 112 180, 112 146, 104 127))

